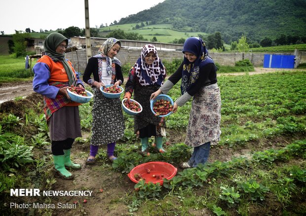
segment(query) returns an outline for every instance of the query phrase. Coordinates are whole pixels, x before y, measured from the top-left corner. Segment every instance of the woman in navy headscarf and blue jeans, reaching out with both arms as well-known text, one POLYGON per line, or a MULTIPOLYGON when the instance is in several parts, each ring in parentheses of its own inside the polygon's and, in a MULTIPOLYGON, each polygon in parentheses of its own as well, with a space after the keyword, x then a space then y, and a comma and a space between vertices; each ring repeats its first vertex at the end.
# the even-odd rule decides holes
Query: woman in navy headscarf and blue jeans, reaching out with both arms
POLYGON ((193 96, 185 144, 194 147, 188 162, 182 168, 204 164, 210 145, 220 141, 221 96, 217 84, 217 68, 208 56, 205 43, 199 37, 189 37, 183 46, 184 60, 179 69, 151 95, 151 99, 167 92, 180 80, 182 96, 173 106, 183 106, 193 96))

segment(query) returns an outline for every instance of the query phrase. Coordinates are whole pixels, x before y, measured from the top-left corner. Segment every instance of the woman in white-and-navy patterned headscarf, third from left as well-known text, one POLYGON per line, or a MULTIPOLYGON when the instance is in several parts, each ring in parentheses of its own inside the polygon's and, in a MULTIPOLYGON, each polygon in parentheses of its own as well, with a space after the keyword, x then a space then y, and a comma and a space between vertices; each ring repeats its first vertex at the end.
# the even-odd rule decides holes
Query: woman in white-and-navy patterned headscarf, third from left
POLYGON ((124 98, 130 99, 134 91, 134 99, 141 104, 143 111, 134 118, 134 132, 139 133, 142 144, 141 154, 148 154, 149 137, 155 136, 156 147, 162 148, 162 137, 165 136, 165 123, 154 116, 150 108, 150 96, 163 84, 166 69, 157 55, 156 47, 145 45, 141 55, 129 72, 125 85, 124 98))

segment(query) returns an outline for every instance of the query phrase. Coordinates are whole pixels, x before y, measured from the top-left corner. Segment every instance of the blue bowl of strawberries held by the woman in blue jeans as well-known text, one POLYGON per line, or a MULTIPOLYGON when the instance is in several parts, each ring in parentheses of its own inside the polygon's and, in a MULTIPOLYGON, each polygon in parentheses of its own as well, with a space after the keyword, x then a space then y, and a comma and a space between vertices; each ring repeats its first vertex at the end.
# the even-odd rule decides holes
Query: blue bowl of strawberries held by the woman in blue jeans
POLYGON ((173 100, 168 95, 158 95, 150 101, 151 111, 155 116, 166 117, 172 113, 173 100))

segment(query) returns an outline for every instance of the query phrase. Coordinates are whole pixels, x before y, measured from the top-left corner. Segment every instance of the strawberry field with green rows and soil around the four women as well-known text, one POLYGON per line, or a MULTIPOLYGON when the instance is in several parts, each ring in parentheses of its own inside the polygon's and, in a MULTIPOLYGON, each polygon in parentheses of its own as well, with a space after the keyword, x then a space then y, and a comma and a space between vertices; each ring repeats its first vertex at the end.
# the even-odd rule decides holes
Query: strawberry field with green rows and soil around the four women
MULTIPOLYGON (((112 164, 105 148, 95 165, 89 154, 92 101, 80 106, 82 138, 72 156, 82 165, 75 180, 61 180, 53 171, 42 97, 9 101, 0 106, 0 194, 3 215, 135 215, 255 216, 306 214, 306 71, 218 77, 222 98, 221 141, 208 162, 181 170, 192 149, 184 144, 191 102, 165 117, 165 152, 139 154, 133 116, 124 113, 126 130, 112 164), (163 185, 132 182, 127 174, 149 161, 178 168, 163 185), (92 191, 91 196, 10 196, 10 188, 92 191), (49 204, 46 208, 11 208, 10 203, 49 204), (59 208, 58 203, 76 208, 59 208), (52 208, 55 205, 55 208, 52 208)), ((87 86, 87 90, 91 89, 87 86)), ((177 84, 169 92, 180 96, 177 84)), ((121 95, 121 97, 123 97, 121 95)), ((122 98, 121 98, 122 99, 122 98)), ((114 125, 115 130, 115 125, 114 125)))

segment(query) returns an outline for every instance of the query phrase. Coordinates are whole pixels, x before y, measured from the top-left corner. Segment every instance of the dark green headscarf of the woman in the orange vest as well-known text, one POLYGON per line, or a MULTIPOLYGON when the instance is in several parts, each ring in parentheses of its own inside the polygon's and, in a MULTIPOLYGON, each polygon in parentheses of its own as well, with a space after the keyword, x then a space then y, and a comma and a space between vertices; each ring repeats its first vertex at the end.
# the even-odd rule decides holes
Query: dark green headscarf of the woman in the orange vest
POLYGON ((68 39, 65 36, 63 36, 63 35, 61 35, 57 32, 51 33, 44 40, 44 44, 43 44, 44 51, 45 51, 45 54, 47 56, 49 56, 51 59, 53 59, 54 62, 62 62, 63 63, 64 69, 65 69, 65 71, 68 75, 69 85, 75 85, 76 86, 76 83, 77 83, 76 82, 76 76, 75 76, 72 68, 70 67, 70 65, 66 61, 65 53, 61 54, 61 53, 58 53, 58 52, 55 51, 56 47, 58 45, 60 45, 60 43, 63 42, 64 40, 66 42, 66 45, 68 45, 68 39))

